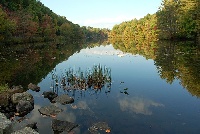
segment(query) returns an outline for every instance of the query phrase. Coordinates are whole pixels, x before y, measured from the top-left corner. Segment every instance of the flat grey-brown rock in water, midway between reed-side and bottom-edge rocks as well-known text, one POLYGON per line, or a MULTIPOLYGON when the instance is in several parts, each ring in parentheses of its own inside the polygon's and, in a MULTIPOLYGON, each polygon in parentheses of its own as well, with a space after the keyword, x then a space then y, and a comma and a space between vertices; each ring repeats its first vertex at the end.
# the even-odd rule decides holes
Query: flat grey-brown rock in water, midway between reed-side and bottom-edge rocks
POLYGON ((38 111, 43 115, 54 117, 58 113, 62 112, 63 110, 54 105, 50 105, 50 106, 41 107, 40 109, 38 109, 38 111))

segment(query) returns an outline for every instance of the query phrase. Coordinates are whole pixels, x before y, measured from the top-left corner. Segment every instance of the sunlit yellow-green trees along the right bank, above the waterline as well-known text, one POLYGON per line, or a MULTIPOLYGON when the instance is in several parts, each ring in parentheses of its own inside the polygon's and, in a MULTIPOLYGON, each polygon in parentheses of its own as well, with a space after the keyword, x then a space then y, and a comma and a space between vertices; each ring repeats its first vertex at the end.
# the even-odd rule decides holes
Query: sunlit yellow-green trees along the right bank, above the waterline
POLYGON ((115 25, 109 37, 200 41, 200 1, 163 0, 155 14, 115 25))

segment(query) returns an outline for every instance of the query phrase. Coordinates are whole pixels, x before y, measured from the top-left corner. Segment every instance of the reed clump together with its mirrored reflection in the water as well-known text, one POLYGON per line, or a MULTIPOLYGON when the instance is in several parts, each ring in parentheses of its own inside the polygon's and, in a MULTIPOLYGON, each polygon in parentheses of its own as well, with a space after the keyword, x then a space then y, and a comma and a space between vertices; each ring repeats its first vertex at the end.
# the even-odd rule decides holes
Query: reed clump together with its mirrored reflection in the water
POLYGON ((63 70, 61 74, 57 73, 56 69, 51 72, 50 89, 56 94, 59 94, 59 89, 62 89, 73 97, 77 97, 78 93, 78 97, 82 98, 85 94, 84 91, 88 90, 91 96, 98 96, 102 88, 106 94, 110 93, 112 80, 111 68, 109 67, 99 64, 85 71, 82 71, 80 67, 78 70, 73 68, 63 70))

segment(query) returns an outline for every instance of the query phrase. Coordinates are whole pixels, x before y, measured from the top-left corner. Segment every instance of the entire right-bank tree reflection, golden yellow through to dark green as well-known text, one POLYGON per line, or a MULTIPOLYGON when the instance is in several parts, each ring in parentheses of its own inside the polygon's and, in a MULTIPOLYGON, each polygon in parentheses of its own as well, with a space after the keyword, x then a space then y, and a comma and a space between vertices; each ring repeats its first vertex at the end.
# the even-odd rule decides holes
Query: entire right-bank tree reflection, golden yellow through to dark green
POLYGON ((200 52, 193 42, 135 42, 120 38, 110 39, 110 42, 125 53, 154 59, 162 79, 170 84, 179 79, 192 95, 200 96, 200 52))

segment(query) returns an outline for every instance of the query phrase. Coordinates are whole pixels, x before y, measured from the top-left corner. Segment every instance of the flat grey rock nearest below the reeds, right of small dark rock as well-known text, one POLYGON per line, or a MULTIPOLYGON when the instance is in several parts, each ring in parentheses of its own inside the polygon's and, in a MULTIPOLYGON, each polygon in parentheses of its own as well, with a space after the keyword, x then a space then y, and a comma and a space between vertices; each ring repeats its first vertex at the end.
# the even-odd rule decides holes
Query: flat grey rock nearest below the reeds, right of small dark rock
POLYGON ((60 96, 57 96, 56 98, 54 98, 52 100, 52 102, 58 102, 58 103, 61 103, 61 104, 70 104, 70 103, 73 103, 74 102, 74 99, 70 96, 68 96, 67 94, 63 94, 63 95, 60 95, 60 96))

